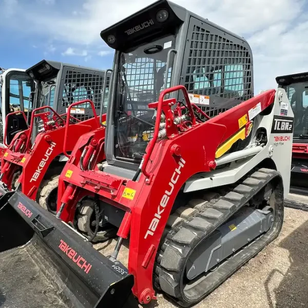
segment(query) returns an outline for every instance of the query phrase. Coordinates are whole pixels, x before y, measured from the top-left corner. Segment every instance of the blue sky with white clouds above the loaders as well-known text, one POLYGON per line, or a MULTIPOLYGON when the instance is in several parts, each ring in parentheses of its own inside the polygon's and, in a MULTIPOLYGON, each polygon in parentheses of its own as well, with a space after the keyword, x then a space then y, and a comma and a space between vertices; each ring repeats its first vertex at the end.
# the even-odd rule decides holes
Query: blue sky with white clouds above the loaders
MULTIPOLYGON (((243 36, 254 56, 255 94, 278 75, 308 71, 308 0, 174 0, 243 36)), ((29 68, 46 59, 111 68, 101 30, 152 0, 0 0, 0 66, 29 68)))

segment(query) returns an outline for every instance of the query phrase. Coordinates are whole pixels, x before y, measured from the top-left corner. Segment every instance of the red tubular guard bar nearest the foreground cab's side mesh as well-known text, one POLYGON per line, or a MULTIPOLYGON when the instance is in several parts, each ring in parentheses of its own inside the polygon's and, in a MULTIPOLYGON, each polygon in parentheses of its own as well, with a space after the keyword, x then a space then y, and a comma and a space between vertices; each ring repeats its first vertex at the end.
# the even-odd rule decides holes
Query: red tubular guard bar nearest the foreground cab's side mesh
POLYGON ((157 142, 157 139, 158 139, 159 125, 160 125, 160 121, 161 121, 162 105, 163 105, 164 97, 168 93, 176 92, 176 91, 180 91, 180 90, 183 91, 184 98, 185 98, 186 104, 187 104, 187 108, 188 108, 189 113, 190 113, 192 125, 196 124, 196 117, 195 117, 194 111, 192 110, 191 103, 189 101, 188 92, 183 85, 179 85, 179 86, 175 86, 175 87, 172 87, 172 88, 165 89, 164 91, 162 91, 160 93, 159 100, 158 100, 158 106, 157 106, 157 114, 156 114, 156 122, 155 122, 155 129, 154 129, 154 133, 153 133, 153 139, 150 141, 150 144, 148 145, 149 148, 148 148, 148 150, 147 150, 147 152, 144 156, 144 161, 143 161, 143 164, 141 166, 141 171, 147 178, 150 177, 150 174, 146 171, 146 167, 147 167, 147 164, 149 162, 149 159, 150 159, 151 153, 153 151, 153 148, 155 146, 155 143, 157 142))

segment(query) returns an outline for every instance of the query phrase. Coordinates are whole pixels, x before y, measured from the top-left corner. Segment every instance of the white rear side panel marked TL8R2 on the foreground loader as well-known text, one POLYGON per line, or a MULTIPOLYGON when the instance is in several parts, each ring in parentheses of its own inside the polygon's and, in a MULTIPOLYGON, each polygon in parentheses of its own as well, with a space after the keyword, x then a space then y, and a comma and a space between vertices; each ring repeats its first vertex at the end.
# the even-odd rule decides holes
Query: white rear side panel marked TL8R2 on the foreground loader
POLYGON ((269 159, 281 174, 284 197, 286 197, 290 190, 293 111, 290 104, 287 103, 287 110, 285 110, 287 112, 284 116, 281 116, 281 106, 286 106, 285 104, 281 104, 282 102, 288 102, 287 96, 285 90, 278 89, 271 113, 267 115, 259 114, 249 119, 254 122, 251 143, 255 142, 257 129, 263 127, 266 130, 268 142, 261 152, 254 157, 247 157, 246 159, 233 162, 230 164, 229 168, 217 169, 191 177, 185 183, 184 192, 235 183, 260 162, 269 159), (286 125, 285 123, 288 124, 286 125))

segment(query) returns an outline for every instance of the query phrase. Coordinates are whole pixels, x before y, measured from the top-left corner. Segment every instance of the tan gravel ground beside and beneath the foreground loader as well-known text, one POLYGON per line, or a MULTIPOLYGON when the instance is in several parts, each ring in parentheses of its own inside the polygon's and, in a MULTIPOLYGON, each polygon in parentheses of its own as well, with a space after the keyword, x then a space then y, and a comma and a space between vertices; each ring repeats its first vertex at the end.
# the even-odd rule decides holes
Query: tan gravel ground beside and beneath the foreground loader
MULTIPOLYGON (((98 244, 104 254, 111 245, 98 244)), ((127 257, 125 247, 121 257, 127 257)), ((122 258, 121 258, 122 259, 122 258)), ((123 259, 122 259, 123 260, 123 259)), ((300 308, 308 307, 308 212, 285 208, 277 240, 223 283, 195 308, 300 308)), ((178 307, 159 294, 144 308, 178 307)))

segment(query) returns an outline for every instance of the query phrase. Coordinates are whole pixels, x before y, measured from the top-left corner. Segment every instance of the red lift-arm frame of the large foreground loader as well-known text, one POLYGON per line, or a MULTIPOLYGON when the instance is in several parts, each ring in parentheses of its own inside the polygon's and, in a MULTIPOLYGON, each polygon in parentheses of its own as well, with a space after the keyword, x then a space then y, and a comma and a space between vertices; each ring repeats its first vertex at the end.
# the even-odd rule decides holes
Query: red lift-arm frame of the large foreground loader
MULTIPOLYGON (((125 210, 118 236, 127 238, 130 234, 128 271, 134 276, 132 292, 140 303, 148 303, 156 298, 152 285, 153 265, 179 190, 198 172, 208 172, 216 168, 216 151, 239 131, 239 120, 246 116, 246 128, 251 127, 248 110, 260 103, 263 111, 274 103, 275 92, 263 92, 202 123, 192 112, 192 108, 200 111, 189 102, 184 86, 164 90, 158 103, 149 104, 150 108, 157 108, 157 118, 153 139, 147 146, 142 174, 138 181, 110 175, 100 171, 97 166, 93 170, 82 170, 79 162, 86 146, 88 149, 92 147, 91 153, 97 151, 98 156, 103 155, 102 128, 84 134, 79 139, 60 176, 57 210, 62 205, 61 218, 65 222, 73 221, 78 201, 95 194, 101 200, 125 210), (179 113, 175 110, 181 107, 178 104, 171 110, 171 106, 177 104, 176 100, 164 100, 166 94, 179 90, 183 91, 189 110, 189 125, 175 124, 175 115, 179 113), (166 116, 168 138, 158 140, 162 111, 166 116), (187 146, 189 144, 194 146, 187 146)), ((96 159, 99 160, 100 157, 96 159)), ((87 164, 85 159, 83 161, 87 164)))

